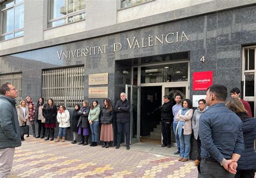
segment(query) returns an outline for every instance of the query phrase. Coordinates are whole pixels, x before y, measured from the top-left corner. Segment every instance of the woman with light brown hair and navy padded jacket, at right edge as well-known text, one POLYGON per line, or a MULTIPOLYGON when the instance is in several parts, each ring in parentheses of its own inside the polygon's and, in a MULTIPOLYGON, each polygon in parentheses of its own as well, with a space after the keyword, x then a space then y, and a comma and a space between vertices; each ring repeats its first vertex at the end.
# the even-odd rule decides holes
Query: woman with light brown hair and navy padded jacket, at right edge
POLYGON ((238 177, 254 177, 256 170, 256 152, 254 151, 254 139, 256 139, 256 119, 248 116, 244 104, 237 98, 228 99, 226 106, 236 113, 242 120, 242 135, 244 136, 245 150, 242 152, 237 164, 238 177))

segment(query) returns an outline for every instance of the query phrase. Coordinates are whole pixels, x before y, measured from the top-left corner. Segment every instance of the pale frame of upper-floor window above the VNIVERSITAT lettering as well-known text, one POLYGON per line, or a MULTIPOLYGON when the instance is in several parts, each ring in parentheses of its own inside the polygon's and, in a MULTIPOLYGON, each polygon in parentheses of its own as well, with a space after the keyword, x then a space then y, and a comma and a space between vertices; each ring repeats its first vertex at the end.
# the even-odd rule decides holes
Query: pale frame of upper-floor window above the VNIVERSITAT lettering
MULTIPOLYGON (((72 23, 80 22, 80 21, 86 19, 86 6, 85 6, 85 9, 78 10, 78 11, 76 11, 76 12, 68 13, 68 0, 65 0, 65 1, 66 1, 66 15, 64 15, 64 16, 62 16, 62 17, 57 17, 57 18, 50 19, 51 1, 52 1, 52 0, 48 0, 47 29, 51 29, 51 28, 55 28, 55 27, 59 27, 59 26, 67 25, 67 24, 72 24, 72 23), (76 21, 76 22, 70 22, 70 23, 68 23, 69 17, 76 16, 76 15, 79 15, 79 14, 82 14, 82 13, 84 13, 84 15, 85 15, 85 18, 84 18, 84 19, 78 20, 78 21, 76 21), (50 23, 52 23, 52 22, 57 22, 58 20, 62 20, 62 19, 65 19, 65 20, 66 20, 66 23, 65 23, 65 24, 57 25, 57 26, 49 26, 50 23)), ((75 0, 74 0, 74 1, 75 1, 75 0)), ((73 4, 73 11, 75 10, 74 8, 75 8, 75 3, 73 4)))

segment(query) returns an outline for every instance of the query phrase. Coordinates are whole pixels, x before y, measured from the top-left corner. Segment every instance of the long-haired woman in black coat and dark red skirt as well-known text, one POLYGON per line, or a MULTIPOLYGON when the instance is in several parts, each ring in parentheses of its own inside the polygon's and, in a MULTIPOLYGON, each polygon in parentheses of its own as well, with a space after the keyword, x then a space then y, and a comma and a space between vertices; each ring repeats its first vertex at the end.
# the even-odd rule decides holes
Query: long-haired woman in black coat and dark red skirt
POLYGON ((56 116, 57 107, 53 102, 52 98, 48 99, 47 104, 43 108, 43 116, 45 117, 45 127, 47 129, 47 138, 44 140, 49 140, 51 133, 51 141, 54 140, 54 127, 56 127, 56 116))

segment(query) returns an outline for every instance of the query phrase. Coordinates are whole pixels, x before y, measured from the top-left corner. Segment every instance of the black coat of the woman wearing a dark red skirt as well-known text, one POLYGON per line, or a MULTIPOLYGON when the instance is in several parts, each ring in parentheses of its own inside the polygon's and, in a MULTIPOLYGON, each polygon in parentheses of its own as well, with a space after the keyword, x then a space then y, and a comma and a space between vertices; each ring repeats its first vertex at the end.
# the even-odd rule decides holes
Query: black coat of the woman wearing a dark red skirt
POLYGON ((45 124, 56 123, 57 117, 57 107, 52 105, 51 107, 48 104, 45 104, 43 108, 43 116, 45 117, 45 124))

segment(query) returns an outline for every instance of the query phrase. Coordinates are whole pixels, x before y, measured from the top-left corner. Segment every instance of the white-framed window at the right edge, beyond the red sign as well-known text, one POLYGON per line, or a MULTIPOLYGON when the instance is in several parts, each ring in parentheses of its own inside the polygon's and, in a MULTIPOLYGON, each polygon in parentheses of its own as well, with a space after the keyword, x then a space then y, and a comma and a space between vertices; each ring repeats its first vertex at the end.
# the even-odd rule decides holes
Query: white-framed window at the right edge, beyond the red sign
POLYGON ((242 53, 242 81, 244 81, 243 97, 251 105, 252 115, 255 116, 256 46, 244 47, 242 53))

